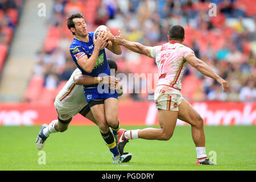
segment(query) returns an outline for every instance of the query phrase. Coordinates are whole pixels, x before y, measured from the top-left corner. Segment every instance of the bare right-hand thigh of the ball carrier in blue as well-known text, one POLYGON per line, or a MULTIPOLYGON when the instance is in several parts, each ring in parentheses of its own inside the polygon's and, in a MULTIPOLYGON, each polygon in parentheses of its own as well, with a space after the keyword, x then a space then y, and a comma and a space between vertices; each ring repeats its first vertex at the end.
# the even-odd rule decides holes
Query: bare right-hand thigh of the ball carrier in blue
POLYGON ((118 123, 118 100, 110 97, 104 101, 106 120, 109 125, 117 125, 118 123))

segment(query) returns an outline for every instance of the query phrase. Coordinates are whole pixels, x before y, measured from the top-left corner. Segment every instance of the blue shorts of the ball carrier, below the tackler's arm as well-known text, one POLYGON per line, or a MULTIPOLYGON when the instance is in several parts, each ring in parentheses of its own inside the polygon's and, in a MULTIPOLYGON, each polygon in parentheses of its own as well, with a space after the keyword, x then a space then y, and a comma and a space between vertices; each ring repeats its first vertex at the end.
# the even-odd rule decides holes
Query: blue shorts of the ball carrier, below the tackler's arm
POLYGON ((108 90, 109 92, 107 93, 99 93, 97 88, 92 88, 92 89, 86 89, 84 88, 84 95, 86 98, 86 102, 89 103, 92 100, 95 99, 102 99, 106 100, 107 98, 113 97, 113 98, 118 98, 118 93, 115 90, 108 90), (114 92, 113 92, 114 91, 114 92))

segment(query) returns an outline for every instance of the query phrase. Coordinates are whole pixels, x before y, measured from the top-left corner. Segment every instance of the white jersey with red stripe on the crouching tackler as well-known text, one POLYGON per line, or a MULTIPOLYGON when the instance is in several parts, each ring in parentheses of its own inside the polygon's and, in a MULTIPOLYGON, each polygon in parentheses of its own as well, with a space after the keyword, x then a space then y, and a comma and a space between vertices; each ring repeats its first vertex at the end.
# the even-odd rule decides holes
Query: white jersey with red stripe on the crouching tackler
POLYGON ((82 74, 78 68, 75 69, 63 89, 60 90, 55 99, 55 105, 56 103, 59 103, 65 108, 76 108, 84 107, 88 104, 84 96, 83 86, 77 85, 73 80, 73 77, 77 74, 82 74), (60 102, 56 102, 56 100, 59 100, 60 102))

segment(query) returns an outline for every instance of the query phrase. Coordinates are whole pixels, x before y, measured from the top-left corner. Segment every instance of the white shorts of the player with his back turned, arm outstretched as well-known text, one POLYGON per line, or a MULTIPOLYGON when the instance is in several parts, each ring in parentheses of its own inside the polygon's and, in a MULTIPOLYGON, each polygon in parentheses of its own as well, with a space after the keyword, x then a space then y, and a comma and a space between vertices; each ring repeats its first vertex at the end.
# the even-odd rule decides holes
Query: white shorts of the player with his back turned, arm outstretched
POLYGON ((170 86, 159 85, 155 89, 154 99, 158 109, 179 111, 183 97, 179 90, 170 86))

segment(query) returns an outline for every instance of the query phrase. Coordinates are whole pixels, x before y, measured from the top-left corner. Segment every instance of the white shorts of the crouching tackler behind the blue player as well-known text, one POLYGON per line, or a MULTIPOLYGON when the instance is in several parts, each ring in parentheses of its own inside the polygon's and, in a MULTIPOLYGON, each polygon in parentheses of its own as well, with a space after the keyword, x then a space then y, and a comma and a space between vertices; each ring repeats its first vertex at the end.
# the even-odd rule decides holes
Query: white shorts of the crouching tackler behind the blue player
POLYGON ((88 103, 85 102, 80 106, 66 106, 60 102, 59 98, 56 97, 54 105, 55 105, 55 109, 57 110, 58 117, 61 120, 65 121, 77 115, 82 108, 88 105, 88 103))

